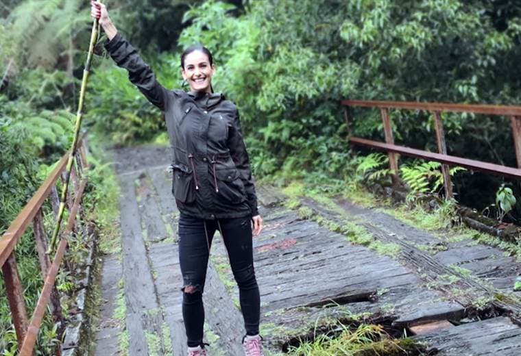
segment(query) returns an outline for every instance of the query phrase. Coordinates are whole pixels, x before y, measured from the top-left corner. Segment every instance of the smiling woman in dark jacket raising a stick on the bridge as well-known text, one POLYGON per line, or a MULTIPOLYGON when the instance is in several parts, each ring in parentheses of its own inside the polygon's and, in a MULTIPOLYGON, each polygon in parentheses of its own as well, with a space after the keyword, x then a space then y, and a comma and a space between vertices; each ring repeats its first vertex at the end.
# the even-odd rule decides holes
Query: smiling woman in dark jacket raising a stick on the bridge
POLYGON ((105 47, 147 99, 162 110, 173 148, 173 195, 180 210, 179 259, 183 276, 182 314, 188 354, 206 355, 202 294, 210 244, 218 229, 235 280, 246 335, 247 356, 263 355, 258 335, 260 297, 253 266, 252 235, 263 228, 258 214, 237 107, 213 92, 213 58, 196 45, 181 56, 181 73, 190 92, 167 90, 130 43, 119 34, 104 4, 91 2, 108 37, 105 47), (253 225, 253 231, 252 231, 253 225))

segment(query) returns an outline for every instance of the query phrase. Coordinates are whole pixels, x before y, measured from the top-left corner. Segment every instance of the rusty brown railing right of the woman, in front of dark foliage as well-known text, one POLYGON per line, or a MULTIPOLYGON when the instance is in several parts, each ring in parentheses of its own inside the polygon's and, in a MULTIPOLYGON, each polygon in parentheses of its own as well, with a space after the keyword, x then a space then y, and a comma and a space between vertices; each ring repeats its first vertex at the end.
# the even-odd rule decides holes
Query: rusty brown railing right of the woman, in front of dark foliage
POLYGON ((496 175, 503 175, 505 177, 512 177, 521 179, 521 106, 500 106, 500 105, 466 105, 466 104, 449 104, 449 103, 414 103, 407 101, 361 101, 361 100, 344 100, 341 102, 346 107, 346 121, 348 125, 353 118, 350 114, 349 107, 371 107, 380 110, 382 117, 385 143, 372 140, 365 140, 364 138, 350 136, 349 141, 352 144, 358 144, 380 151, 387 151, 389 155, 389 164, 393 170, 393 180, 398 177, 398 160, 396 154, 409 155, 412 157, 419 157, 425 160, 435 161, 441 163, 441 172, 444 176, 445 196, 447 199, 452 198, 452 183, 450 181, 450 174, 448 166, 461 166, 478 170, 486 173, 496 175), (422 110, 431 112, 435 123, 437 153, 423 151, 419 149, 411 149, 409 147, 397 146, 394 144, 393 132, 391 129, 391 118, 389 118, 389 110, 422 110), (492 164, 476 160, 469 160, 463 157, 447 155, 447 148, 445 143, 445 133, 443 120, 441 118, 442 112, 468 112, 472 114, 487 114, 500 115, 510 118, 512 127, 514 151, 516 152, 516 159, 518 168, 501 166, 499 164, 492 164))

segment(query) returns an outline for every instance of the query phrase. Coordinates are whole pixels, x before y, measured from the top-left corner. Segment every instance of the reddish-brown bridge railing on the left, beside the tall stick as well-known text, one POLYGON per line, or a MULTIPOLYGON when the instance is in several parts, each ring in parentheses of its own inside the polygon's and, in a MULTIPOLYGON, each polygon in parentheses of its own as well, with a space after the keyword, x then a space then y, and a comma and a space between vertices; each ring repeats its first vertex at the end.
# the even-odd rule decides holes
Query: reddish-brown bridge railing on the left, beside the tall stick
MULTIPOLYGON (((19 355, 29 356, 34 354, 34 345, 38 337, 45 310, 49 301, 51 302, 51 312, 55 321, 62 320, 62 308, 60 306, 60 296, 55 286, 56 276, 60 270, 60 264, 64 257, 67 246, 67 237, 75 230, 75 217, 82 201, 82 194, 86 187, 86 170, 88 162, 86 160, 86 147, 82 140, 75 153, 75 165, 71 170, 71 181, 73 192, 69 192, 67 196, 66 208, 69 210, 69 221, 60 235, 60 243, 56 255, 51 262, 50 256, 47 255, 47 233, 43 226, 43 204, 46 199, 50 199, 53 212, 58 214, 58 190, 56 184, 58 179, 66 178, 65 167, 69 153, 66 153, 58 162, 56 168, 45 179, 38 191, 32 196, 27 205, 22 209, 20 214, 16 216, 5 233, 0 237, 0 267, 5 282, 5 291, 8 297, 9 307, 11 311, 16 338, 19 344, 19 355), (16 258, 14 257, 14 249, 19 242, 25 230, 32 223, 33 237, 38 251, 38 259, 40 269, 44 278, 43 290, 38 298, 38 303, 34 309, 31 320, 27 318, 23 294, 23 281, 20 280, 18 268, 16 266, 16 258)), ((69 190, 71 191, 71 190, 69 190)))

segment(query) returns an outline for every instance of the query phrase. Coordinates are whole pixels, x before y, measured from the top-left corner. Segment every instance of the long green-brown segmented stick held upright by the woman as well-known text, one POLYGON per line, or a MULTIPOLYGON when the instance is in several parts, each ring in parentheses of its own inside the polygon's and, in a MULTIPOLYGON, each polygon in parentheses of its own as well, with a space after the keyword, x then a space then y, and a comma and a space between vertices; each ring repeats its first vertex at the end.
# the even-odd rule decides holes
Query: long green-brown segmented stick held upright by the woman
POLYGON ((82 110, 83 110, 83 103, 84 103, 84 99, 85 99, 85 92, 86 92, 86 88, 87 88, 88 74, 90 73, 90 62, 92 62, 92 60, 93 60, 94 46, 97 42, 98 34, 99 34, 99 23, 98 23, 97 19, 95 19, 93 22, 93 29, 90 32, 90 44, 88 46, 88 55, 87 55, 85 68, 83 70, 82 88, 80 90, 80 102, 78 103, 78 107, 77 107, 74 138, 73 138, 73 144, 71 147, 71 151, 69 151, 69 160, 67 161, 67 166, 66 166, 65 181, 63 182, 62 194, 61 194, 61 198, 60 198, 60 208, 58 209, 58 220, 56 221, 56 227, 54 228, 53 236, 51 238, 51 242, 49 243, 49 249, 47 249, 47 254, 50 254, 53 251, 54 246, 56 245, 56 238, 58 237, 58 233, 60 232, 60 226, 62 225, 63 213, 65 210, 65 201, 66 201, 66 197, 67 197, 67 190, 69 190, 69 181, 71 180, 71 170, 72 170, 72 166, 74 163, 74 156, 76 154, 78 138, 80 136, 80 128, 82 127, 82 119, 83 119, 82 110))

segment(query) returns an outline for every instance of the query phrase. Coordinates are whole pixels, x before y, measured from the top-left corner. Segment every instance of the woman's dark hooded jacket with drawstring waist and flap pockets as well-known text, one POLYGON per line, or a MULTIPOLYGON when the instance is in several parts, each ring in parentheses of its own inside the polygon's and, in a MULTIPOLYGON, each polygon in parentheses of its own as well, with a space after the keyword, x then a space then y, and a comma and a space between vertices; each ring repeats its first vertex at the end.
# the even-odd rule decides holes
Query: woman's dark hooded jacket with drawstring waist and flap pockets
POLYGON ((121 34, 105 47, 165 114, 173 149, 172 192, 180 212, 206 219, 256 216, 252 170, 234 103, 222 94, 167 90, 121 34))

